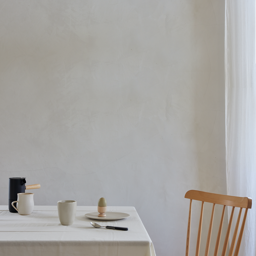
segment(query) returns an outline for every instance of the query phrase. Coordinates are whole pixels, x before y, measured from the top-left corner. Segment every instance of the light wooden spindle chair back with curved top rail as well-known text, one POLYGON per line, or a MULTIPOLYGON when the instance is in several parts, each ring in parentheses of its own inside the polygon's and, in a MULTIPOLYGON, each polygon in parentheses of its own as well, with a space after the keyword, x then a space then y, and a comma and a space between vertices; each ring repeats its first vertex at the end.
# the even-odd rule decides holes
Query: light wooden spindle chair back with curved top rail
POLYGON ((190 199, 189 218, 188 218, 188 224, 187 224, 186 256, 189 255, 192 200, 202 201, 195 256, 199 255, 201 232, 202 232, 202 222, 203 222, 204 202, 208 202, 208 203, 213 204, 212 214, 211 214, 211 219, 210 219, 210 224, 209 224, 209 230, 208 230, 208 236, 207 236, 207 241, 206 241, 206 247, 205 247, 205 256, 208 256, 209 248, 210 248, 210 240, 211 240, 211 234, 212 234, 212 224, 213 224, 215 204, 223 205, 223 210, 222 210, 222 216, 221 216, 221 220, 220 220, 218 235, 217 235, 217 239, 216 239, 214 256, 218 255, 218 250, 219 250, 219 246, 220 246, 220 236, 221 236, 221 232, 222 232, 222 225, 223 225, 224 213, 225 213, 226 206, 232 206, 232 211, 231 211, 231 214, 230 214, 230 220, 228 222, 228 228, 227 228, 226 237, 225 237, 224 245, 223 245, 223 249, 222 249, 222 256, 226 255, 226 251, 227 251, 227 247, 228 247, 228 239, 229 239, 229 236, 230 236, 230 230, 231 230, 231 225, 232 225, 232 220, 233 220, 233 215, 234 215, 234 209, 235 209, 235 207, 239 207, 240 211, 239 211, 239 214, 238 214, 236 227, 235 227, 235 230, 234 230, 232 243, 230 245, 230 250, 229 250, 228 256, 233 255, 234 248, 235 248, 235 243, 236 243, 236 238, 237 238, 237 234, 238 234, 238 229, 239 229, 239 222, 240 222, 240 218, 241 218, 242 209, 245 208, 243 221, 242 221, 242 225, 241 225, 241 228, 240 228, 240 233, 239 233, 239 236, 238 236, 238 240, 237 240, 237 243, 236 243, 236 249, 235 249, 235 253, 234 253, 234 256, 237 256, 238 252, 239 252, 239 249, 240 249, 240 245, 241 245, 241 239, 242 239, 242 236, 243 236, 243 229, 244 229, 244 225, 245 225, 247 211, 248 211, 248 208, 251 208, 252 199, 249 198, 249 197, 234 197, 234 196, 228 196, 228 195, 219 195, 219 194, 207 193, 207 192, 197 191, 197 190, 187 191, 187 193, 185 194, 185 198, 190 199))

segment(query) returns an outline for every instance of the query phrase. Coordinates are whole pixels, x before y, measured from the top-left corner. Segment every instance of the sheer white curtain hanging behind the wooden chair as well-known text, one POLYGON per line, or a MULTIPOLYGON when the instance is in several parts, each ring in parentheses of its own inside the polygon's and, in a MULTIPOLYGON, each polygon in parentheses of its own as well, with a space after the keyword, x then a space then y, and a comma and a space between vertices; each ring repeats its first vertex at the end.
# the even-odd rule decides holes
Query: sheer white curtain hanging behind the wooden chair
POLYGON ((239 255, 255 256, 255 0, 226 0, 225 3, 227 194, 252 198, 239 255))

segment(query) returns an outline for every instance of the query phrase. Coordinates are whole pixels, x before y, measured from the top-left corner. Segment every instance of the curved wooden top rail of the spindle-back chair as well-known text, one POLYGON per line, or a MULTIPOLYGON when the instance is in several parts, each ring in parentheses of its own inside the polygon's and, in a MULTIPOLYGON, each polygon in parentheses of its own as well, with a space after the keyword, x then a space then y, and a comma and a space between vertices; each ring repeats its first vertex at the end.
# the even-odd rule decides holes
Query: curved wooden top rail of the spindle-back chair
POLYGON ((203 192, 198 190, 187 191, 187 193, 185 194, 185 198, 219 204, 219 205, 228 205, 228 206, 250 208, 250 209, 252 204, 252 199, 250 197, 234 197, 229 195, 208 193, 208 192, 203 192))

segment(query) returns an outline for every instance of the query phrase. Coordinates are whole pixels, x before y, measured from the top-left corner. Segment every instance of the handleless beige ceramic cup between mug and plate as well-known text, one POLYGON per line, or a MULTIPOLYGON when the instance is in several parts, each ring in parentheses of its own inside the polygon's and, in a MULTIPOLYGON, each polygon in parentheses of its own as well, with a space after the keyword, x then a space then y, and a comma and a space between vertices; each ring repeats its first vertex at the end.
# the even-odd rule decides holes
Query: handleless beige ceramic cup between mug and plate
POLYGON ((76 212, 77 212, 77 201, 74 200, 63 200, 58 201, 57 203, 58 207, 58 215, 59 215, 59 221, 61 225, 72 225, 76 212))

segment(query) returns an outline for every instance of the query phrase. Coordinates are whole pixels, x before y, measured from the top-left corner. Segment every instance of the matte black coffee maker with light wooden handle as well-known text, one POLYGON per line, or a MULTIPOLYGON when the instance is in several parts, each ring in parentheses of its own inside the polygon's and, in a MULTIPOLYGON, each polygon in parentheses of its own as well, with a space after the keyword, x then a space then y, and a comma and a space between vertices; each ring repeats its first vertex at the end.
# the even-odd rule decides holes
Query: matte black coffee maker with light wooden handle
MULTIPOLYGON (((25 193, 25 189, 37 189, 40 188, 40 184, 27 185, 25 186, 26 178, 9 178, 9 211, 17 212, 13 206, 12 202, 17 201, 18 193, 25 193)), ((16 203, 14 203, 16 207, 16 203)))

